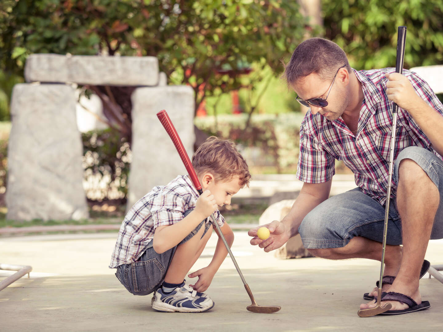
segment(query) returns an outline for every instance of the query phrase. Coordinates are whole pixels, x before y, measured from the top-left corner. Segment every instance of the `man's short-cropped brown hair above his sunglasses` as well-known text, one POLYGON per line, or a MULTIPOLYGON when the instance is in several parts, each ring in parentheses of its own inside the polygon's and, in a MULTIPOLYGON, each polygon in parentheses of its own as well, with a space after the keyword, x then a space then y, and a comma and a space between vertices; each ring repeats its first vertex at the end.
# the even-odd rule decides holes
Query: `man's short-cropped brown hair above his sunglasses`
POLYGON ((295 48, 288 65, 285 66, 284 77, 291 88, 300 78, 317 73, 325 80, 332 80, 337 69, 346 66, 350 72, 345 51, 335 42, 323 38, 310 38, 295 48))

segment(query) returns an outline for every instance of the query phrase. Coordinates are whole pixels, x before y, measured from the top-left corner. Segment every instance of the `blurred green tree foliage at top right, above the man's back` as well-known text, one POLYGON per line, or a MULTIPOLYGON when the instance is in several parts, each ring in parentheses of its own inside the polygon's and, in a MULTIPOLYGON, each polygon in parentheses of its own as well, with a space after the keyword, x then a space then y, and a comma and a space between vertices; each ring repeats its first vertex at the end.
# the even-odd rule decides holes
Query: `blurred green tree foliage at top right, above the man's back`
POLYGON ((357 69, 395 67, 397 27, 408 28, 404 68, 443 63, 443 1, 323 0, 325 38, 357 69))

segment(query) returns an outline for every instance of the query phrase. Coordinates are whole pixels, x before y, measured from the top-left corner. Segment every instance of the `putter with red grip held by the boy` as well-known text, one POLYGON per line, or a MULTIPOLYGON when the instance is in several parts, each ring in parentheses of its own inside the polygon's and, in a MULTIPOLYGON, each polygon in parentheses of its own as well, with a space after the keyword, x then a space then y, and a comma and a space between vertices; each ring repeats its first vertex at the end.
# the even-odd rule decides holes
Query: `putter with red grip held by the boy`
MULTIPOLYGON (((183 147, 182 140, 179 137, 179 134, 175 130, 174 125, 172 124, 171 119, 167 115, 167 112, 165 110, 160 111, 157 113, 157 117, 159 118, 161 124, 166 129, 166 132, 168 133, 169 137, 171 137, 172 142, 175 145, 175 148, 177 149, 177 152, 180 155, 180 158, 182 159, 183 165, 186 167, 186 170, 189 174, 189 177, 192 181, 192 183, 195 186, 195 189, 197 189, 198 193, 201 195, 203 193, 202 185, 200 185, 200 181, 198 181, 197 174, 195 173, 194 167, 192 166, 192 163, 190 162, 189 156, 186 153, 185 148, 183 147)), ((245 278, 243 277, 243 274, 240 271, 240 268, 237 265, 237 261, 234 258, 234 255, 232 254, 231 249, 229 248, 228 243, 226 242, 225 236, 221 232, 220 226, 217 223, 217 220, 215 220, 214 213, 211 214, 211 220, 212 223, 217 228, 218 234, 221 237, 221 240, 223 243, 225 243, 225 247, 227 251, 229 252, 229 256, 231 256, 231 259, 234 263, 235 268, 237 269, 238 274, 240 275, 241 281, 245 285, 245 289, 248 292, 249 297, 251 298, 252 304, 246 307, 249 311, 253 313, 275 313, 281 309, 279 305, 276 306, 264 306, 264 305, 257 305, 256 301, 254 300, 253 294, 251 290, 249 289, 248 284, 245 281, 245 278)))

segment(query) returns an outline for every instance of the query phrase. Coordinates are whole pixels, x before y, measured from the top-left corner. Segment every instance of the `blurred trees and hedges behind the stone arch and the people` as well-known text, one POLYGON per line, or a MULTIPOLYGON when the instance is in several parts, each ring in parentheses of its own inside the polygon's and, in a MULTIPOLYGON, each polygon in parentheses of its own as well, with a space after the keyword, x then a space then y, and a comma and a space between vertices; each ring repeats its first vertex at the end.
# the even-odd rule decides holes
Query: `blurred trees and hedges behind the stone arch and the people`
MULTIPOLYGON (((392 67, 397 27, 405 25, 404 68, 442 64, 442 17, 441 0, 1 0, 0 193, 12 88, 24 81, 30 54, 155 56, 169 84, 194 89, 203 136, 258 149, 266 158, 255 173, 293 173, 303 110, 280 75, 299 42, 333 40, 355 69, 392 67)), ((132 90, 83 88, 118 96, 114 106, 127 115, 126 123, 110 117, 109 130, 83 135, 85 178, 108 174, 109 190, 124 201, 132 90)))

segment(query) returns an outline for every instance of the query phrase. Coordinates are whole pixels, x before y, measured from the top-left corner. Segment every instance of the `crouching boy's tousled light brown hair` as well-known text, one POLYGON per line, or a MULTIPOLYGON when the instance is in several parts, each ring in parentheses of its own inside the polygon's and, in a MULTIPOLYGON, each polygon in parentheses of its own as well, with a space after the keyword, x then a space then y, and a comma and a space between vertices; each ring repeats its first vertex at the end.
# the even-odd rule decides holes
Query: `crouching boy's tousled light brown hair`
POLYGON ((240 178, 240 185, 249 187, 248 164, 237 151, 233 141, 208 137, 192 156, 192 166, 198 175, 209 172, 214 175, 215 181, 229 181, 234 175, 240 178))

